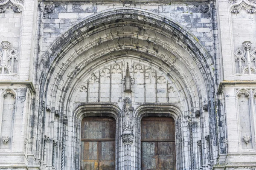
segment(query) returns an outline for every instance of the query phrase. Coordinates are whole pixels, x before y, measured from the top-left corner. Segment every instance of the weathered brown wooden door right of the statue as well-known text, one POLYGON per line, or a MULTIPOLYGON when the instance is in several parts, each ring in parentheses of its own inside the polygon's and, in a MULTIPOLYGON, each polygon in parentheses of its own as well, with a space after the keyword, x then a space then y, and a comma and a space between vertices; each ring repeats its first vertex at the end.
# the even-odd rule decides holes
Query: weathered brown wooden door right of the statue
POLYGON ((174 119, 143 118, 141 145, 142 170, 176 170, 174 119))

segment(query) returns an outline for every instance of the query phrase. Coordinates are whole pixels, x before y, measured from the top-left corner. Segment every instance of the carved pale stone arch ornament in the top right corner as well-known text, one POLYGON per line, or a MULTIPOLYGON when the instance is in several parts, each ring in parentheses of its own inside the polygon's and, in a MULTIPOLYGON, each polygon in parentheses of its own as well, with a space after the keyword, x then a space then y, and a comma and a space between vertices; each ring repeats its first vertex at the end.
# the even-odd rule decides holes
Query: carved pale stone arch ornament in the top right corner
POLYGON ((242 8, 244 8, 247 13, 253 14, 256 12, 256 0, 229 0, 230 12, 238 14, 242 8))

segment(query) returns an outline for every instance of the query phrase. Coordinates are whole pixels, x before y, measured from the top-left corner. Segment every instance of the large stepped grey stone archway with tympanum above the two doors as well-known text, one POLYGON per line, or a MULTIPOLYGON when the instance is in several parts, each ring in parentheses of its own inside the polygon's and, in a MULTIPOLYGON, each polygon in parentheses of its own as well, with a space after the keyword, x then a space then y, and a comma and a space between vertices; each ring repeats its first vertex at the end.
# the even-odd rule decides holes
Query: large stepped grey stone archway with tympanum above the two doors
MULTIPOLYGON (((215 102, 212 100, 215 99, 215 83, 211 65, 213 65, 211 56, 195 36, 172 20, 145 10, 116 8, 94 14, 77 23, 69 31, 61 34, 43 54, 41 72, 38 74, 40 80, 38 112, 45 118, 47 112, 54 110, 60 113, 60 122, 64 122, 63 120, 69 122, 58 125, 65 127, 63 131, 65 129, 70 133, 64 134, 69 145, 62 151, 64 155, 58 156, 58 162, 61 164, 56 168, 65 166, 67 169, 77 169, 79 131, 76 130, 76 123, 79 118, 74 115, 76 108, 84 104, 103 103, 118 106, 120 110, 126 97, 131 99, 134 113, 138 108, 150 103, 175 105, 179 108, 177 120, 183 122, 183 125, 180 125, 177 133, 180 133, 181 139, 186 144, 180 144, 182 154, 177 157, 179 159, 177 167, 196 168, 198 162, 195 156, 198 154, 196 142, 199 137, 201 139, 209 133, 201 129, 201 120, 196 118, 196 112, 203 113, 203 105, 207 104, 208 118, 215 119, 215 102), (134 89, 131 92, 124 91, 124 82, 122 82, 127 62, 128 72, 134 80, 134 89), (150 80, 149 75, 151 75, 150 80), (113 83, 113 80, 116 82, 113 83), (101 82, 104 82, 103 85, 101 82), (151 90, 147 91, 147 89, 151 90), (209 100, 211 102, 208 104, 209 100), (53 109, 47 110, 45 106, 53 109), (189 124, 189 121, 193 123, 189 124), (196 129, 194 136, 192 129, 196 129), (183 152, 184 147, 187 147, 186 150, 189 152, 183 152), (72 161, 64 164, 61 161, 63 159, 72 161)), ((169 112, 174 112, 172 107, 167 108, 169 112)), ((158 111, 161 109, 158 107, 158 111)), ((108 113, 100 106, 96 107, 96 110, 99 113, 108 113)), ((151 112, 146 109, 147 111, 151 112)), ((138 114, 132 117, 134 122, 137 120, 136 115, 138 114)), ((118 140, 116 147, 120 157, 117 158, 116 169, 125 166, 122 164, 125 161, 122 156, 125 154, 125 146, 121 141, 122 116, 118 118, 120 136, 116 139, 118 140)), ((49 121, 52 120, 45 119, 44 123, 49 121)), ((41 135, 48 133, 54 126, 43 128, 41 135)), ((211 126, 215 129, 215 123, 211 126)), ((137 131, 135 128, 133 130, 137 131)), ((211 134, 211 142, 215 143, 217 133, 212 130, 211 134)), ((63 136, 63 133, 56 133, 55 136, 63 136)), ((129 166, 140 169, 140 160, 135 159, 138 154, 138 146, 135 142, 130 148, 131 157, 134 159, 129 166)), ((217 151, 218 145, 215 144, 211 149, 217 151)), ((216 152, 211 153, 212 159, 216 158, 216 152)), ((37 154, 39 156, 40 152, 37 154)))

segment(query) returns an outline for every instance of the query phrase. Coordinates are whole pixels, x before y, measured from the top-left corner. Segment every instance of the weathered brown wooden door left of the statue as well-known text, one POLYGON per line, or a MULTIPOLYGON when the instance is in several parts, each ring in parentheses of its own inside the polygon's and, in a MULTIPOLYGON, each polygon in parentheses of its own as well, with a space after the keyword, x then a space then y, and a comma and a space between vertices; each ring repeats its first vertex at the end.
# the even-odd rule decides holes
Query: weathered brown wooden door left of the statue
POLYGON ((80 170, 115 169, 115 119, 87 117, 81 123, 80 170))

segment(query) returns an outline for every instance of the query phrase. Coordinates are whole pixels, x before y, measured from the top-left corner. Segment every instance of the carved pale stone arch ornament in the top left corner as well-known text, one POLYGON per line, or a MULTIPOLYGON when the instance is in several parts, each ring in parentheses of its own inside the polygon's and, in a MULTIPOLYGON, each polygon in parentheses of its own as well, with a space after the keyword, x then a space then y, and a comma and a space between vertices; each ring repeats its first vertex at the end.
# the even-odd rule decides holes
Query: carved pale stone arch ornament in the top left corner
POLYGON ((12 8, 15 13, 19 13, 24 9, 23 3, 23 0, 0 0, 0 13, 5 12, 7 8, 12 8))

